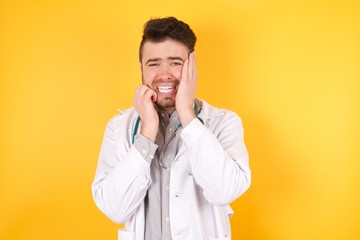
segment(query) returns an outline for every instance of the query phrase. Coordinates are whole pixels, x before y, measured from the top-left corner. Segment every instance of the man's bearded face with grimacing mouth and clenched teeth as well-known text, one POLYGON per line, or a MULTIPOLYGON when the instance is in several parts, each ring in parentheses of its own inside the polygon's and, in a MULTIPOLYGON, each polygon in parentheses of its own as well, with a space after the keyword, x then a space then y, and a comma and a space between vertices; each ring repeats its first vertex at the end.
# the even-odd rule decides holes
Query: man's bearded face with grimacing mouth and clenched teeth
POLYGON ((163 110, 175 110, 181 70, 188 56, 188 48, 181 42, 171 39, 163 42, 148 41, 143 46, 142 81, 157 93, 156 104, 163 110))

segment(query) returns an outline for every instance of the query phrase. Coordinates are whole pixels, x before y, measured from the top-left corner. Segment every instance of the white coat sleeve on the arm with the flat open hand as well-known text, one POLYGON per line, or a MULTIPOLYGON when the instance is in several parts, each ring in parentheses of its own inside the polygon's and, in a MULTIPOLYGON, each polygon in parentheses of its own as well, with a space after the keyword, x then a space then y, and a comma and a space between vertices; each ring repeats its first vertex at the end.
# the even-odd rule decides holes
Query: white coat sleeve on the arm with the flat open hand
POLYGON ((251 182, 241 119, 233 112, 224 114, 211 130, 194 119, 181 134, 195 181, 204 197, 219 206, 230 204, 251 182))

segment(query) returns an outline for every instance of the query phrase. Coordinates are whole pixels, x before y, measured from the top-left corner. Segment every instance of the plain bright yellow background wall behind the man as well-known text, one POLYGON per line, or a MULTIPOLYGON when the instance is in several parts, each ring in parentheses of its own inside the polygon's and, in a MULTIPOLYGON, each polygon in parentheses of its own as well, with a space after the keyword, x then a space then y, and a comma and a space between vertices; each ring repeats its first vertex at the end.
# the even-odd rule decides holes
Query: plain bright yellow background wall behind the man
POLYGON ((116 239, 91 183, 150 17, 198 36, 198 96, 236 111, 233 239, 360 239, 360 1, 2 0, 0 239, 116 239))

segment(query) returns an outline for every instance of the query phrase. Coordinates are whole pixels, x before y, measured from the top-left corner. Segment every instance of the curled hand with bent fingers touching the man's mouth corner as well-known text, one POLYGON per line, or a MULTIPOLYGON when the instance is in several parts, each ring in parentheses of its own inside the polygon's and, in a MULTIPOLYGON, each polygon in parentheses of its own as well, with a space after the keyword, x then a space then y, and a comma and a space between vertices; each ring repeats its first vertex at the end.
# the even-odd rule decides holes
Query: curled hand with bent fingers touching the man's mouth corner
POLYGON ((140 134, 155 142, 159 130, 159 116, 154 108, 157 94, 146 85, 136 88, 133 105, 141 119, 140 134))

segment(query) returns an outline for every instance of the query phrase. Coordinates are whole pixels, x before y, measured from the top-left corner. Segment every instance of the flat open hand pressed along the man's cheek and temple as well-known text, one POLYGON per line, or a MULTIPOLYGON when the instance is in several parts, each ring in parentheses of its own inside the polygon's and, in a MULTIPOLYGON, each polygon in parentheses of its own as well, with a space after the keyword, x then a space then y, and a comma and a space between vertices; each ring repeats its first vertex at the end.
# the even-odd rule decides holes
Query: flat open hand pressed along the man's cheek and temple
POLYGON ((181 71, 179 89, 176 94, 176 110, 183 127, 186 127, 196 115, 193 110, 197 82, 195 53, 192 52, 185 60, 181 71))

